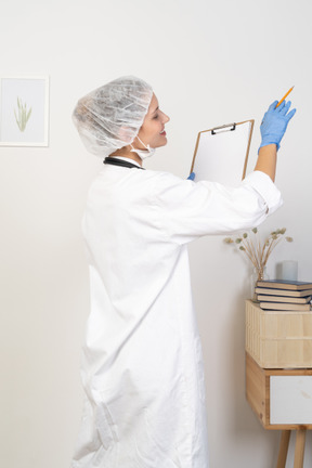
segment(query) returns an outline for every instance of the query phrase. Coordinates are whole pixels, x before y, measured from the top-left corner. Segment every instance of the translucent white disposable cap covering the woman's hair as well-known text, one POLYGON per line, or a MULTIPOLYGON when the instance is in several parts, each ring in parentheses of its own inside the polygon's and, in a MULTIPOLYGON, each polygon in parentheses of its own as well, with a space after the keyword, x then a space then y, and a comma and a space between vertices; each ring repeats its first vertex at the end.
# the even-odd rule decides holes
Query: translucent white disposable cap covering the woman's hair
POLYGON ((150 84, 129 76, 117 78, 81 98, 73 120, 87 150, 106 157, 132 143, 152 96, 150 84))

